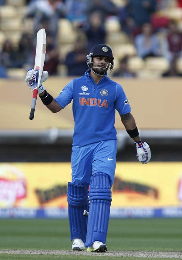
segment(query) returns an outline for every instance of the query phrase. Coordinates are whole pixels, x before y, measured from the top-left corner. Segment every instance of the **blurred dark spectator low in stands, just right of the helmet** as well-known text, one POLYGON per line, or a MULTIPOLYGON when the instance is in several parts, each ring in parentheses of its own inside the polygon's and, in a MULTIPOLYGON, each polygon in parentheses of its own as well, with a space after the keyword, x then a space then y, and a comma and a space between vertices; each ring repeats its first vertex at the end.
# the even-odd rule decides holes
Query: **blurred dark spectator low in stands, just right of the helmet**
POLYGON ((128 69, 128 59, 129 57, 126 55, 119 60, 119 69, 114 73, 114 77, 132 78, 135 76, 128 69))

